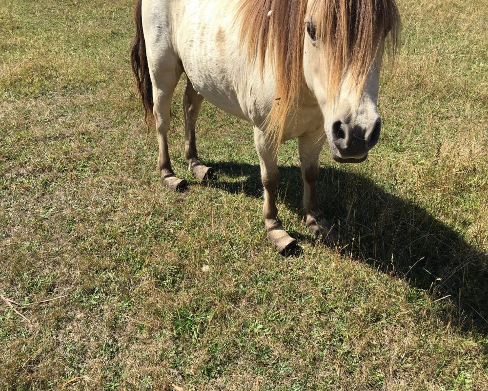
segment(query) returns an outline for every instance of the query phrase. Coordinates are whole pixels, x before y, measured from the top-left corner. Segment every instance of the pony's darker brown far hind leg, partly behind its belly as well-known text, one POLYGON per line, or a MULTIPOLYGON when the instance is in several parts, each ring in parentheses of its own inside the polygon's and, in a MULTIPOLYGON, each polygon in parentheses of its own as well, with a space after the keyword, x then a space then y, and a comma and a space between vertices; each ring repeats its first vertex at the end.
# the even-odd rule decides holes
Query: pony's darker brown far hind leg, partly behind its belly
POLYGON ((185 158, 188 162, 188 170, 201 180, 208 180, 213 177, 213 169, 206 167, 200 162, 197 154, 195 126, 202 106, 203 96, 200 95, 190 79, 186 84, 183 97, 184 106, 184 135, 185 135, 185 158))

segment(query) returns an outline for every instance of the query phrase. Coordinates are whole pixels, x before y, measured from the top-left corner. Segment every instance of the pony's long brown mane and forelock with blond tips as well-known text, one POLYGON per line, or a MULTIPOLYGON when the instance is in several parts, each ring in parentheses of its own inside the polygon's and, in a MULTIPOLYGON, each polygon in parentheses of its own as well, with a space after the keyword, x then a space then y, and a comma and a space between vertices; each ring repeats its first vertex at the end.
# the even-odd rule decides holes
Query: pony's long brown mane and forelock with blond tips
MULTIPOLYGON (((272 140, 280 143, 288 115, 298 108, 304 85, 303 59, 307 0, 243 0, 240 37, 248 60, 266 57, 276 77, 276 95, 266 126, 272 140)), ((344 72, 362 91, 383 38, 390 53, 396 52, 400 18, 395 0, 314 0, 316 39, 324 45, 328 68, 328 101, 337 98, 344 72)), ((324 64, 325 65, 325 64, 324 64)))

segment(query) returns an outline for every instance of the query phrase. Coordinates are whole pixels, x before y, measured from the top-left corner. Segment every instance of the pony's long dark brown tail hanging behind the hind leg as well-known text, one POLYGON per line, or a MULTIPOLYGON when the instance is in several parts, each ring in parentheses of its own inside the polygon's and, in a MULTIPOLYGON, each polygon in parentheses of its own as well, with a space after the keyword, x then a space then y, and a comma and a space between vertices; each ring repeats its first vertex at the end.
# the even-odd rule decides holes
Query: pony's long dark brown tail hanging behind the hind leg
POLYGON ((144 31, 142 30, 142 0, 136 0, 134 20, 136 22, 136 37, 132 42, 130 60, 132 72, 136 78, 137 89, 144 105, 144 120, 146 125, 149 126, 149 123, 153 120, 154 102, 149 66, 147 65, 144 31))

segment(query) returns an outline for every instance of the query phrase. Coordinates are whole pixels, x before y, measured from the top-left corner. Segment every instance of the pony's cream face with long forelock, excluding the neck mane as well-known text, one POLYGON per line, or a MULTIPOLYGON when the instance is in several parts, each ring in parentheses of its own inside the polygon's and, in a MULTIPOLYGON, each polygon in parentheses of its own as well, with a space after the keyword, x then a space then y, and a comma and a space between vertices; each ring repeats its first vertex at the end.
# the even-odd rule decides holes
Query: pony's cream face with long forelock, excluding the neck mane
POLYGON ((336 161, 359 163, 380 138, 378 90, 383 48, 397 41, 393 0, 309 0, 304 75, 324 114, 336 161))

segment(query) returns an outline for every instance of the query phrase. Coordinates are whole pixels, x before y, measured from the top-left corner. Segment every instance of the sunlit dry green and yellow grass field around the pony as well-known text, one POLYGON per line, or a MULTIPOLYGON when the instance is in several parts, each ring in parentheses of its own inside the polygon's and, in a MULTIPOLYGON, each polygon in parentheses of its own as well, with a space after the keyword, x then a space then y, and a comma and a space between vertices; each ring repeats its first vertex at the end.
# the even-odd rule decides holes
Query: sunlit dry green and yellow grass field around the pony
POLYGON ((0 390, 488 390, 488 3, 398 4, 382 139, 321 158, 341 247, 309 236, 296 142, 280 152, 285 259, 249 125, 205 103, 217 178, 187 172, 183 84, 190 188, 161 186, 132 1, 0 2, 0 294, 29 320, 0 302, 0 390))

